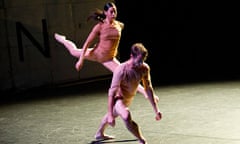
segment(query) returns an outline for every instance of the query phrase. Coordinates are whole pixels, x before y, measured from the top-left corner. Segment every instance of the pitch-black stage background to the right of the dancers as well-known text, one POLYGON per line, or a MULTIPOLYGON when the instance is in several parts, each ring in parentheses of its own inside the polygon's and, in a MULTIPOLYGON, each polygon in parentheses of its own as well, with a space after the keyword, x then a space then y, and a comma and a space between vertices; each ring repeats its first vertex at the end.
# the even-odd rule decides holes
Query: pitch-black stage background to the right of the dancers
POLYGON ((120 60, 142 42, 155 84, 239 79, 234 3, 117 0, 116 5, 125 24, 120 60))

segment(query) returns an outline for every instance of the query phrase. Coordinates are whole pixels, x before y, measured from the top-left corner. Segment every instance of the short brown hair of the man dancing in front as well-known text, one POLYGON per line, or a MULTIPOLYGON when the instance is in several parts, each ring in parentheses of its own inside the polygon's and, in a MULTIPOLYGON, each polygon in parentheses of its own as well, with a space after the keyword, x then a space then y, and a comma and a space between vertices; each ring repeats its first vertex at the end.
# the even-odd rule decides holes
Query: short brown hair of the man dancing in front
POLYGON ((133 57, 137 57, 138 55, 142 55, 143 61, 147 59, 148 50, 142 43, 135 43, 132 45, 131 54, 133 57))

